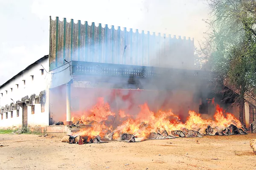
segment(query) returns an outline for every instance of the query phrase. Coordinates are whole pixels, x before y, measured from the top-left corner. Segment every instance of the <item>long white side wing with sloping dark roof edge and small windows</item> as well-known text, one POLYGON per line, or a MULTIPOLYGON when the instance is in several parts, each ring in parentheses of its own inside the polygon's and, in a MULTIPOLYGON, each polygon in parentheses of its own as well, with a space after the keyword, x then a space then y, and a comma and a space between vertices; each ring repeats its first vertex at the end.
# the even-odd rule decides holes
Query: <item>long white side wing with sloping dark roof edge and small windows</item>
POLYGON ((0 128, 49 125, 48 67, 46 55, 0 86, 0 128))

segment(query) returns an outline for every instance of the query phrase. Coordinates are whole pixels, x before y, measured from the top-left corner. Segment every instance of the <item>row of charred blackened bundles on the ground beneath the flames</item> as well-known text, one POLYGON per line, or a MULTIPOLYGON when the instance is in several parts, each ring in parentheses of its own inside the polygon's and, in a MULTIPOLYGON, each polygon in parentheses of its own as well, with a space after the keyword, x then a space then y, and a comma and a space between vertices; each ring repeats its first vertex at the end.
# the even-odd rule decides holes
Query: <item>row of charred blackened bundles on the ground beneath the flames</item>
MULTIPOLYGON (((146 127, 146 123, 142 123, 143 127, 146 127)), ((75 125, 74 125, 75 126, 75 125)), ((170 134, 166 130, 157 129, 156 132, 151 132, 143 137, 138 137, 136 134, 122 133, 120 131, 108 132, 102 139, 97 136, 64 136, 61 142, 67 142, 70 144, 91 144, 91 143, 104 143, 111 140, 124 141, 124 142, 142 142, 144 140, 152 139, 174 139, 174 138, 189 138, 189 137, 203 137, 203 136, 230 136, 230 135, 246 135, 247 133, 236 127, 230 125, 223 130, 219 130, 218 127, 212 128, 210 125, 202 132, 202 129, 198 131, 181 128, 180 130, 173 130, 170 134), (117 139, 114 139, 114 134, 118 134, 117 139), (66 140, 65 140, 66 139, 66 140)))

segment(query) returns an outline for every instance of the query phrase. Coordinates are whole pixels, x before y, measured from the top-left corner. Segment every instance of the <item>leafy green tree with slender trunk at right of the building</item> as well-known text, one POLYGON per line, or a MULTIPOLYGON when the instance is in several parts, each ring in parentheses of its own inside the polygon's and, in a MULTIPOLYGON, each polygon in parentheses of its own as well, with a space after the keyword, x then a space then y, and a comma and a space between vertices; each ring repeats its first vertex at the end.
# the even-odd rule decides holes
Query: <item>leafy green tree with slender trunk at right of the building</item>
POLYGON ((211 18, 201 49, 218 77, 239 93, 239 119, 243 123, 244 94, 255 94, 256 1, 207 0, 211 18))

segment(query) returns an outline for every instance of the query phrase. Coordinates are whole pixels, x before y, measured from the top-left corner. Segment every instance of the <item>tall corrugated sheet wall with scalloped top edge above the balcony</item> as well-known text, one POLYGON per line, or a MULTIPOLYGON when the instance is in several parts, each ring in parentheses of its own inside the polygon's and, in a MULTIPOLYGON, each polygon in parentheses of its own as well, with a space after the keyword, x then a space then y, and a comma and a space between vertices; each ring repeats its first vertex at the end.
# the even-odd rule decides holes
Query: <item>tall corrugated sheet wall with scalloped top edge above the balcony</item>
POLYGON ((168 62, 170 67, 179 61, 188 67, 194 64, 193 48, 190 38, 151 35, 120 27, 116 30, 114 26, 90 26, 80 20, 74 23, 50 17, 50 70, 63 65, 64 59, 143 66, 166 66, 168 62))

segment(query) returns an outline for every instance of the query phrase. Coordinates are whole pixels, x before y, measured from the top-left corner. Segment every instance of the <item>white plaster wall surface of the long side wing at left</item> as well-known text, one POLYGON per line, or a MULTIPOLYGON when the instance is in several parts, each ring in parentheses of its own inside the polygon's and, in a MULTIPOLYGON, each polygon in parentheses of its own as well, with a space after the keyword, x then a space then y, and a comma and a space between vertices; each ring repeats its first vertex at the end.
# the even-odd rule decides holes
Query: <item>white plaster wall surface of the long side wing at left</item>
MULTIPOLYGON (((46 91, 46 104, 45 112, 41 113, 41 104, 35 104, 35 114, 31 113, 31 106, 28 106, 28 126, 45 126, 49 125, 49 85, 51 83, 51 74, 48 74, 44 70, 44 74, 41 75, 41 70, 43 67, 49 68, 49 58, 44 59, 41 62, 38 62, 29 70, 23 72, 15 79, 11 80, 4 87, 0 88, 0 93, 3 93, 3 96, 0 94, 0 107, 5 105, 10 105, 13 99, 15 102, 21 100, 24 96, 31 96, 36 94, 39 96, 39 93, 43 90, 46 91), (32 80, 31 75, 34 76, 32 80), (25 85, 22 80, 25 80, 25 85), (18 84, 18 88, 17 85, 18 84), (12 91, 11 91, 12 88, 12 91), (7 91, 7 94, 6 94, 7 91)), ((10 77, 11 78, 11 77, 10 77)), ((10 116, 8 119, 5 119, 5 113, 3 113, 3 119, 0 119, 0 127, 12 127, 12 126, 21 126, 22 125, 22 108, 20 107, 20 116, 16 116, 16 111, 13 111, 13 118, 11 118, 11 112, 8 112, 10 116)))

